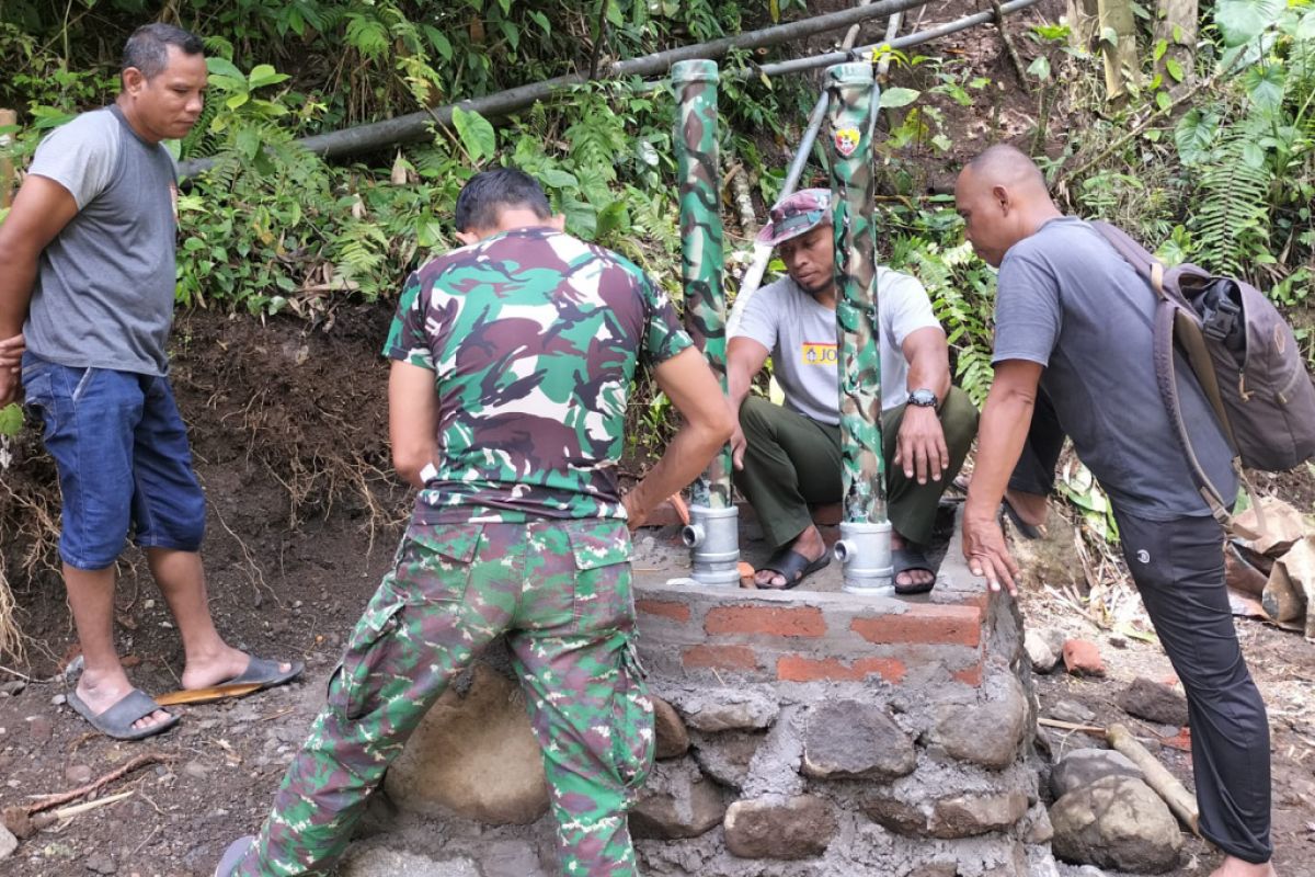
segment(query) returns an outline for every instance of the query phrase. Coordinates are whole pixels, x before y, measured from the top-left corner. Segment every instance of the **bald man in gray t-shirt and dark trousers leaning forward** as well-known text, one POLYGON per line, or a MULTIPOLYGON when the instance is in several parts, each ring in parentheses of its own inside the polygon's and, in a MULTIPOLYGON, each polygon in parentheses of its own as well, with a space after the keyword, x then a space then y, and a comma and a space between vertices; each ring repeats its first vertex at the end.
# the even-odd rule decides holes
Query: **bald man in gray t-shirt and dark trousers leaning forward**
MULTIPOLYGON (((1015 510, 1044 519, 1069 435, 1114 505, 1128 569, 1187 693, 1201 832, 1226 853, 1214 877, 1273 874, 1265 705, 1228 609, 1223 533, 1156 387, 1156 296, 1095 229, 1060 213, 1013 147, 974 159, 955 200, 977 255, 999 268, 995 380, 964 509, 969 567, 1015 593, 997 509, 1009 492, 1015 510)), ((1191 369, 1178 375, 1201 462, 1232 497, 1228 446, 1191 369)))

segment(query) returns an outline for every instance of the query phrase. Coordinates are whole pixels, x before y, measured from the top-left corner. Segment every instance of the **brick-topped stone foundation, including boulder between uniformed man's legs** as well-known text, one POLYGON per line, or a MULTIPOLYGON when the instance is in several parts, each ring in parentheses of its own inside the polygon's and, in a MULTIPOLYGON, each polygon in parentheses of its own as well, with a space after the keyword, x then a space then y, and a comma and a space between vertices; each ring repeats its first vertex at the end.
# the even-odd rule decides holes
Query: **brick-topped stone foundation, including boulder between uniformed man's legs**
MULTIPOLYGON (((1022 622, 961 557, 956 535, 935 590, 913 600, 710 590, 639 573, 639 656, 659 698, 659 760, 630 817, 642 873, 1055 874, 1030 761, 1022 622)), ((421 849, 484 877, 555 873, 551 818, 508 824, 546 803, 525 738, 469 732, 480 717, 512 721, 514 696, 488 673, 444 696, 426 726, 448 727, 418 734, 404 761, 460 753, 504 769, 473 784, 459 768, 391 776, 401 810, 375 806, 387 834, 366 849, 421 849), (459 715, 467 702, 480 717, 459 715), (501 827, 471 820, 489 814, 501 827)))

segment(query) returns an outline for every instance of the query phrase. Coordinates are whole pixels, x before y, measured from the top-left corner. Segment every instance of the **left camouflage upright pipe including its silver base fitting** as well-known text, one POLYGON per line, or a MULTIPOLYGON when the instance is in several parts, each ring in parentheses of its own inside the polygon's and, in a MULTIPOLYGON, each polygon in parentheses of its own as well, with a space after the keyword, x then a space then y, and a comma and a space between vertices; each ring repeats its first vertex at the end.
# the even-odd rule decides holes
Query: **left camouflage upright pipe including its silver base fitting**
MULTIPOLYGON (((717 63, 672 67, 676 89, 676 164, 680 181, 681 281, 685 327, 726 391, 726 292, 722 287, 722 216, 717 147, 717 63)), ((731 448, 723 447, 690 489, 693 579, 739 584, 739 527, 731 502, 731 448)))

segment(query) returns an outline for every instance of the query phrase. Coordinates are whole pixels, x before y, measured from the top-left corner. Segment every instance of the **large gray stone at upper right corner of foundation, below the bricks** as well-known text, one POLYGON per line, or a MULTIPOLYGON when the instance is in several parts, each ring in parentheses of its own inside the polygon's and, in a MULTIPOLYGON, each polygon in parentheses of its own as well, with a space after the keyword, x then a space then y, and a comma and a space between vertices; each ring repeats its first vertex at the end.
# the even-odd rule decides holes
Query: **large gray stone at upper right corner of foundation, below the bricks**
POLYGON ((984 701, 938 706, 928 740, 960 761, 997 770, 1013 764, 1027 731, 1027 697, 1013 673, 997 678, 984 701))

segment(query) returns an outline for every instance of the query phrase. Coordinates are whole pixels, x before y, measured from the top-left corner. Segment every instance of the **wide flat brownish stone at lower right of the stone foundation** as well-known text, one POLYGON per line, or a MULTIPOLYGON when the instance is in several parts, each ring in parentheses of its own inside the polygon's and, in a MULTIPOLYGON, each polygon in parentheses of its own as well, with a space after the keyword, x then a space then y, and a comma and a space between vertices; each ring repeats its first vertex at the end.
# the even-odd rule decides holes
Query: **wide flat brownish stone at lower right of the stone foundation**
POLYGON ((1022 792, 965 792, 923 805, 878 792, 864 799, 869 819, 906 838, 973 838, 1009 828, 1027 814, 1022 792))

